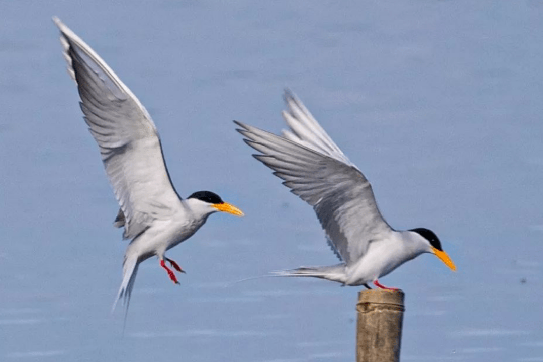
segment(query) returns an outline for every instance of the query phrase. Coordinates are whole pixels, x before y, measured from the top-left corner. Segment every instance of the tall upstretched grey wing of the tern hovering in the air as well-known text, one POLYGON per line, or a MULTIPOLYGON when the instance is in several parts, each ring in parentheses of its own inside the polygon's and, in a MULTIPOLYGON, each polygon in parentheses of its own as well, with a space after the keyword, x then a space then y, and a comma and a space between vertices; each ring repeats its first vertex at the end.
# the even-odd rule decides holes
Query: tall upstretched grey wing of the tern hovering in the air
POLYGON ((85 122, 121 206, 116 226, 124 226, 125 239, 134 238, 154 220, 166 219, 182 207, 155 124, 102 58, 59 18, 53 21, 61 32, 68 73, 77 84, 85 122))

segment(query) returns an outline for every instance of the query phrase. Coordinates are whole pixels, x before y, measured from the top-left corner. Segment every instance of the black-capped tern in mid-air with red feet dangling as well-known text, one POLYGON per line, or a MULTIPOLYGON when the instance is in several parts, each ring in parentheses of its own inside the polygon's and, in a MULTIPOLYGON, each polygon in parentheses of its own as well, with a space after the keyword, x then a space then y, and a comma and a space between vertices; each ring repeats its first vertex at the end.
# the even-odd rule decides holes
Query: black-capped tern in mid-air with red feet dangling
POLYGON ((243 212, 211 191, 197 191, 182 199, 175 190, 163 157, 156 126, 141 102, 111 68, 58 17, 60 42, 68 74, 77 84, 80 107, 98 143, 119 211, 113 225, 124 227, 130 240, 124 254, 122 283, 113 303, 123 298, 126 313, 138 265, 156 255, 173 283, 185 271, 166 251, 190 238, 207 217, 218 211, 243 212))

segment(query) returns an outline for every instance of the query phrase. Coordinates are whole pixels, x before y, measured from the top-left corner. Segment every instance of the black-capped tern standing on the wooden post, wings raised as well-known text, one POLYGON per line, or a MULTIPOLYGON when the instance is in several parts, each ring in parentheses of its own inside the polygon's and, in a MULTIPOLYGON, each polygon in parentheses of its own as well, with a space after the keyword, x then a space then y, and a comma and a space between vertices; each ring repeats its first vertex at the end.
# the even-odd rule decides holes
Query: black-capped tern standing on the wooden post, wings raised
POLYGON ((340 264, 299 267, 275 276, 314 277, 343 286, 374 284, 418 255, 431 253, 450 269, 453 261, 430 229, 395 230, 383 219, 368 179, 334 143, 310 111, 288 89, 282 135, 234 121, 257 160, 273 170, 294 195, 313 207, 340 264))

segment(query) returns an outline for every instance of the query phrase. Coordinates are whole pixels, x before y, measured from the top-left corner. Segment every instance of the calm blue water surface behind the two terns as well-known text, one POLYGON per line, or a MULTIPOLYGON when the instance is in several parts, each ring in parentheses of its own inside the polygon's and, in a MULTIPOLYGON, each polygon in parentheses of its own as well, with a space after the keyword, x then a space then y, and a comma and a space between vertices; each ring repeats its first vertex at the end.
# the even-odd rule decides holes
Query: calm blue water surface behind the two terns
POLYGON ((259 279, 336 263, 313 211, 249 155, 235 118, 283 127, 292 88, 396 228, 437 232, 382 282, 407 294, 404 361, 543 361, 543 3, 0 3, 0 360, 354 359, 356 288, 259 279), (181 195, 213 215, 142 264, 122 336, 126 242, 65 72, 58 15, 153 115, 181 195))

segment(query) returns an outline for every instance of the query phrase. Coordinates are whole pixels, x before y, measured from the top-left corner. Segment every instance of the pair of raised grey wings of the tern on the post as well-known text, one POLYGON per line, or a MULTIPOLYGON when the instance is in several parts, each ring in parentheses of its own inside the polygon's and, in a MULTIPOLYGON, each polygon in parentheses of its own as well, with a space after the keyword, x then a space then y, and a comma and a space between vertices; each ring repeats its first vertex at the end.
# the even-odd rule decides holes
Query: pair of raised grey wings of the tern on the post
POLYGON ((334 251, 350 264, 364 255, 372 240, 386 237, 392 229, 381 216, 362 172, 305 108, 299 107, 298 99, 287 93, 286 100, 289 111, 283 115, 287 122, 296 122, 288 139, 236 122, 242 128, 238 132, 260 152, 254 155, 256 159, 312 205, 334 251))

